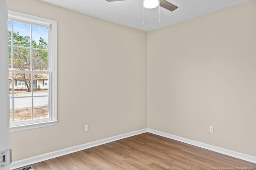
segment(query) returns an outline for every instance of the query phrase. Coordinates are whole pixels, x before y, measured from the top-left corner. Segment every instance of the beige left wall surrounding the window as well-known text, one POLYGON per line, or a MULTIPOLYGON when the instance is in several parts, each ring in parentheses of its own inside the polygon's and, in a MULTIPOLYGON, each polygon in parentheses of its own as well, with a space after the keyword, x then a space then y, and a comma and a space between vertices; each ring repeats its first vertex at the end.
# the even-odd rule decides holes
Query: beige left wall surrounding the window
POLYGON ((13 161, 147 127, 146 32, 37 0, 8 8, 58 24, 58 125, 12 132, 13 161))

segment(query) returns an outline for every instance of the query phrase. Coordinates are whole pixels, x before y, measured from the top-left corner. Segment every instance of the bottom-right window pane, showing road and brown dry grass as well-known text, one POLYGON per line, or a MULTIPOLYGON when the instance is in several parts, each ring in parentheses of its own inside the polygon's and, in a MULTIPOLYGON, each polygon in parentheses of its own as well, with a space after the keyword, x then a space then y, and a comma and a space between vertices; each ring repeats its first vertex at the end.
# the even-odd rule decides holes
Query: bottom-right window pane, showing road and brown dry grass
POLYGON ((49 97, 34 97, 34 119, 49 117, 49 97))

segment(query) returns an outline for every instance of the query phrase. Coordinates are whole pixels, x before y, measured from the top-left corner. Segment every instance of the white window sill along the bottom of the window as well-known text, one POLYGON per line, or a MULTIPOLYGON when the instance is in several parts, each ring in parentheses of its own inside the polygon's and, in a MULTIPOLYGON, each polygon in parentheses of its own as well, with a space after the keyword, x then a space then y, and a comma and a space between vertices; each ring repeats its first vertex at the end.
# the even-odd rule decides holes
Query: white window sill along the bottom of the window
POLYGON ((54 125, 57 125, 57 122, 58 121, 49 121, 49 122, 41 122, 41 123, 32 123, 28 125, 13 126, 13 127, 10 127, 10 132, 54 126, 54 125))

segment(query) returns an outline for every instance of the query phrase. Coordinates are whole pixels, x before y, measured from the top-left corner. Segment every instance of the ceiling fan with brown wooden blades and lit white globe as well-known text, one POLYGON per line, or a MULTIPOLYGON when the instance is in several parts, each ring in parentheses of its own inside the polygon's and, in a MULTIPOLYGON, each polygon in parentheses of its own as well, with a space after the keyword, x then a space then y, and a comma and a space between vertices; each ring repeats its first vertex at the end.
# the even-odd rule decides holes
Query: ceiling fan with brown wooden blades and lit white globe
MULTIPOLYGON (((114 1, 122 1, 122 0, 106 0, 108 2, 114 2, 114 1)), ((145 8, 156 8, 160 4, 161 7, 165 8, 169 11, 174 11, 178 8, 178 6, 175 6, 174 4, 171 4, 170 2, 166 0, 143 0, 143 6, 145 8), (152 3, 152 4, 151 4, 152 3)))

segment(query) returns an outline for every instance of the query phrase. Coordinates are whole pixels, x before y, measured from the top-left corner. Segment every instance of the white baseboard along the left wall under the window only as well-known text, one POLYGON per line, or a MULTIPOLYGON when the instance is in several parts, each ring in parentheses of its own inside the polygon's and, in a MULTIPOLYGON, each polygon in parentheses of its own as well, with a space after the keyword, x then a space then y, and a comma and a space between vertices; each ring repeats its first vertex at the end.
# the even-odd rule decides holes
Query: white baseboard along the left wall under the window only
POLYGON ((33 156, 31 158, 18 160, 18 161, 12 162, 12 164, 10 165, 10 169, 13 170, 13 169, 20 168, 20 167, 23 167, 23 166, 28 166, 28 165, 31 165, 31 164, 35 164, 35 163, 38 163, 38 162, 42 162, 42 161, 45 161, 45 160, 49 160, 49 159, 52 159, 52 158, 56 158, 56 157, 59 157, 59 156, 63 156, 63 155, 66 155, 66 154, 77 152, 77 151, 80 151, 80 150, 92 148, 94 146, 99 146, 101 144, 106 144, 106 143, 113 142, 113 141, 116 141, 116 140, 120 140, 120 139, 123 139, 123 138, 128 138, 130 136, 134 136, 134 135, 137 135, 137 134, 142 134, 142 133, 145 133, 147 131, 148 131, 148 129, 145 128, 145 129, 137 130, 137 131, 134 131, 134 132, 120 134, 120 135, 113 136, 113 137, 110 137, 110 138, 105 138, 105 139, 102 139, 102 140, 97 140, 97 141, 94 141, 94 142, 89 142, 89 143, 86 143, 86 144, 81 144, 81 145, 78 145, 78 146, 73 146, 73 147, 70 147, 70 148, 65 148, 65 149, 62 149, 62 150, 57 150, 57 151, 54 151, 54 152, 49 152, 49 153, 46 153, 46 154, 33 156))

